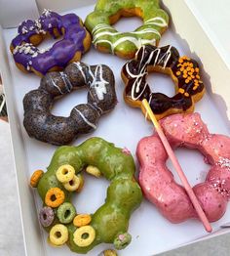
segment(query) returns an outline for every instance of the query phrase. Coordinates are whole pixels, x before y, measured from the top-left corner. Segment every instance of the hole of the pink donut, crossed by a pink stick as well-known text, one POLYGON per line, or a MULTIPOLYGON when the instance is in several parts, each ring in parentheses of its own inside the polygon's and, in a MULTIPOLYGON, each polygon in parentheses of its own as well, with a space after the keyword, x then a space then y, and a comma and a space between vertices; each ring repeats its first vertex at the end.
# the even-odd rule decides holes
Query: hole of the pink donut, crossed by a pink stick
MULTIPOLYGON (((177 148, 173 151, 191 186, 205 181, 210 165, 205 161, 204 155, 199 150, 177 148)), ((170 158, 168 158, 166 165, 172 171, 175 182, 181 184, 170 158)))

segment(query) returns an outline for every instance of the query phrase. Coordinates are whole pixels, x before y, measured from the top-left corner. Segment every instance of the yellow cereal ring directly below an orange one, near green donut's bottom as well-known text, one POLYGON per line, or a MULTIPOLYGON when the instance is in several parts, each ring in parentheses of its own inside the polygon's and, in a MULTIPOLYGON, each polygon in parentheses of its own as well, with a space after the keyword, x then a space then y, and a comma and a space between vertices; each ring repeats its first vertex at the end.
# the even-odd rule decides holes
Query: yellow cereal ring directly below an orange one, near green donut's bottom
POLYGON ((92 226, 84 226, 78 228, 73 234, 73 241, 79 247, 87 247, 96 238, 96 231, 92 226))

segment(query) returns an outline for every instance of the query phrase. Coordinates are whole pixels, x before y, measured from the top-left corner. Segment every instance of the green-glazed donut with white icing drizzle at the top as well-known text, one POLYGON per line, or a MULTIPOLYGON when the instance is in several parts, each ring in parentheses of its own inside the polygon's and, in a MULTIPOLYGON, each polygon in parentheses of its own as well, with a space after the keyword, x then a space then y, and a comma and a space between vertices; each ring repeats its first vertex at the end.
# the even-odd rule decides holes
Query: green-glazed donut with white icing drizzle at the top
POLYGON ((96 49, 125 59, 134 58, 142 45, 158 45, 168 23, 169 16, 160 9, 159 0, 98 0, 85 21, 96 49), (140 17, 143 24, 133 32, 118 32, 111 25, 122 16, 140 17))

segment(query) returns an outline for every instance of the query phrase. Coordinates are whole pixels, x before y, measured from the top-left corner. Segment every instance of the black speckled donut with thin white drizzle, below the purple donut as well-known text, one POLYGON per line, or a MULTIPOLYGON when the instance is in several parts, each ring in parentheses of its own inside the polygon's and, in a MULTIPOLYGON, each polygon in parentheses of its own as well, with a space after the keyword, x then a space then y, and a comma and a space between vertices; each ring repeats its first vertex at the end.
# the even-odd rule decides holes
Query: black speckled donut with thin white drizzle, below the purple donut
POLYGON ((96 129, 100 115, 113 109, 116 103, 114 75, 107 65, 72 63, 63 72, 46 74, 40 87, 25 95, 23 124, 30 137, 65 145, 79 134, 96 129), (68 117, 51 113, 56 99, 86 85, 89 87, 87 104, 73 107, 68 117))

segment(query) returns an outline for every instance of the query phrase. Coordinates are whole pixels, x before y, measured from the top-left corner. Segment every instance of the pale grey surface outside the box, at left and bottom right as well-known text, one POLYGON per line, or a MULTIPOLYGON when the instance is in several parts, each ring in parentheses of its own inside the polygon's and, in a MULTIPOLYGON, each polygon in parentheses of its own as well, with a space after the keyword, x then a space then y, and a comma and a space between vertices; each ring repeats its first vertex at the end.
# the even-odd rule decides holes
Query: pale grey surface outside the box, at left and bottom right
MULTIPOLYGON (((24 256, 25 252, 19 216, 19 197, 11 149, 10 129, 9 124, 3 121, 0 121, 0 142, 0 255, 24 256)), ((159 255, 227 256, 230 255, 230 234, 220 235, 159 255)))

